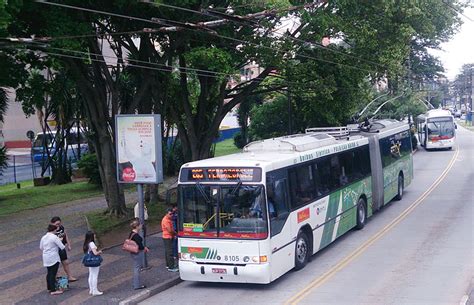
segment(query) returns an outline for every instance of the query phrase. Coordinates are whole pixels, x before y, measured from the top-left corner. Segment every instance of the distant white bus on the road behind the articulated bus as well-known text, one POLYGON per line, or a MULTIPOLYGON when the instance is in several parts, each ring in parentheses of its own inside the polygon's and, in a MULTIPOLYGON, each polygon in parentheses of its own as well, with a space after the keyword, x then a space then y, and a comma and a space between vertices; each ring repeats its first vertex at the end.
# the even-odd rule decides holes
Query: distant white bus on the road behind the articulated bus
POLYGON ((456 124, 450 111, 433 109, 416 118, 418 140, 426 150, 452 149, 456 141, 456 124))

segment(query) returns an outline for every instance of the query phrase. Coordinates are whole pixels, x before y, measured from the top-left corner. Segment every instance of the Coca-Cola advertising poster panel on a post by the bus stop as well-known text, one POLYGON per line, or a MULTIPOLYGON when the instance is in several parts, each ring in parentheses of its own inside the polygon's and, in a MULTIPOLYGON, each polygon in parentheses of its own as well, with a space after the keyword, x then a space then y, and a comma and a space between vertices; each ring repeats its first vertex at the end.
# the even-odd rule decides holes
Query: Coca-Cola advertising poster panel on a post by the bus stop
POLYGON ((163 182, 160 124, 159 114, 115 117, 119 183, 163 182))

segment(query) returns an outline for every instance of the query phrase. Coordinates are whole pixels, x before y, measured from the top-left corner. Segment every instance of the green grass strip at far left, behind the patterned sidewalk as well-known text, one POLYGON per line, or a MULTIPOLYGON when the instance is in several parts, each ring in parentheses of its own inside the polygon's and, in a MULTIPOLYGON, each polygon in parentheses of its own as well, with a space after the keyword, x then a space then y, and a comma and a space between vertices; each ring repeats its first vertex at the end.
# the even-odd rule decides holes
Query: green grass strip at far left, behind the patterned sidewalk
POLYGON ((0 186, 0 216, 101 194, 101 189, 86 181, 37 187, 32 181, 25 181, 20 189, 14 183, 7 184, 0 186))

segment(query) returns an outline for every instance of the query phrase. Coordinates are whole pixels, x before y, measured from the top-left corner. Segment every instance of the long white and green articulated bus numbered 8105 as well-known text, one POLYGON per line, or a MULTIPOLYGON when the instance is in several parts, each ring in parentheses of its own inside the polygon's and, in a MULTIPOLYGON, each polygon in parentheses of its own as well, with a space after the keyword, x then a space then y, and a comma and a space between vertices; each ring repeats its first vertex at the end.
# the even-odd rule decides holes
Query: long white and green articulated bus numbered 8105
POLYGON ((178 183, 183 280, 270 283, 390 200, 413 177, 409 126, 308 129, 187 163, 178 183))

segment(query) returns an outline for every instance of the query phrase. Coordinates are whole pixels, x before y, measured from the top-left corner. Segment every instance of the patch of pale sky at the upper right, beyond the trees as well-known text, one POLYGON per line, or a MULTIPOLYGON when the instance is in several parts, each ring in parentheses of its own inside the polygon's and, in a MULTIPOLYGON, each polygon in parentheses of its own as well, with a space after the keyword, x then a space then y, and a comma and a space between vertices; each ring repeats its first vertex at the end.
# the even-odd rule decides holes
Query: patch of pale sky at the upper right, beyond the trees
POLYGON ((474 7, 466 8, 463 15, 467 18, 461 16, 464 23, 451 40, 441 45, 442 51, 431 50, 443 63, 445 75, 451 81, 461 72, 463 64, 474 63, 474 7))

